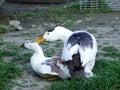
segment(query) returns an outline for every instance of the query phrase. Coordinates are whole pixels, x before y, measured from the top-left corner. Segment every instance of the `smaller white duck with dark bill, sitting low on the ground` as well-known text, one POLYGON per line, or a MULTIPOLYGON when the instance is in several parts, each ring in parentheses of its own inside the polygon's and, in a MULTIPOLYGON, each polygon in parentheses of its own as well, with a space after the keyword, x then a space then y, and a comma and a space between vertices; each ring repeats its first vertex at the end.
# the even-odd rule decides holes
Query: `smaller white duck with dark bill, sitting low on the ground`
POLYGON ((35 42, 26 41, 21 47, 33 50, 34 54, 30 59, 33 70, 42 77, 69 78, 69 70, 60 63, 58 57, 45 57, 42 48, 35 42))

